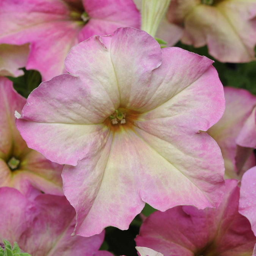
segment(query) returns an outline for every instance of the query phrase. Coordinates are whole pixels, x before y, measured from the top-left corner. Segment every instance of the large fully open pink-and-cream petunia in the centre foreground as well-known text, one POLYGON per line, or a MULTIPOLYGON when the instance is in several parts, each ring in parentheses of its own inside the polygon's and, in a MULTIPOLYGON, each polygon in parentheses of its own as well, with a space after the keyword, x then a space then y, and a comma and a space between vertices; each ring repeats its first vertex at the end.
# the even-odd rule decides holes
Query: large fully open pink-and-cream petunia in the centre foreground
POLYGON ((71 74, 41 83, 16 124, 30 148, 66 165, 75 234, 127 229, 145 202, 220 203, 223 159, 203 132, 225 105, 211 60, 119 28, 74 46, 65 66, 71 74))

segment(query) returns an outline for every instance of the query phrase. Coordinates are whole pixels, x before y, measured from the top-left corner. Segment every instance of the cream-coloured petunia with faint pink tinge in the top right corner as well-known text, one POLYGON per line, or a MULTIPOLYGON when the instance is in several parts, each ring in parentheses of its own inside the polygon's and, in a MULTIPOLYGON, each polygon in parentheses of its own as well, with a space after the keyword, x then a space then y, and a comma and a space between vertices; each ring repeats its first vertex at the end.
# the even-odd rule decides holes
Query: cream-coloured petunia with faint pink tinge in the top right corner
POLYGON ((240 63, 254 60, 254 0, 172 0, 167 19, 184 27, 181 42, 194 47, 207 45, 210 55, 219 61, 240 63))

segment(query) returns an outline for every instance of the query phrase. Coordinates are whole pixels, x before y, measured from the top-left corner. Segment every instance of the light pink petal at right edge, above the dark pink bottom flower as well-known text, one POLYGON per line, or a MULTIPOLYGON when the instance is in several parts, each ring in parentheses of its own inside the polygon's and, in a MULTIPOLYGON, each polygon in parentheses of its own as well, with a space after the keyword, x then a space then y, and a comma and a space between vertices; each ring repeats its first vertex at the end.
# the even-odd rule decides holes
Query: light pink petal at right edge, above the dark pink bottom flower
POLYGON ((256 235, 256 167, 243 174, 241 181, 239 212, 248 218, 251 228, 256 235))

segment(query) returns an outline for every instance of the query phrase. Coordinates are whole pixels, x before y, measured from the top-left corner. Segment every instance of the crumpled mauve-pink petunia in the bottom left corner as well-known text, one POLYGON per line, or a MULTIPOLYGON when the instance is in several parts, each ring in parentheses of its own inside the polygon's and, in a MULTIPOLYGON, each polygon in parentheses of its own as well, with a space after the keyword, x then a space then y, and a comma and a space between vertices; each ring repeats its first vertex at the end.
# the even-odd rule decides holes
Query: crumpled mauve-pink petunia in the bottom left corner
POLYGON ((64 196, 39 195, 33 201, 14 188, 0 188, 0 242, 4 239, 33 256, 111 256, 98 251, 104 232, 71 237, 75 210, 64 196))

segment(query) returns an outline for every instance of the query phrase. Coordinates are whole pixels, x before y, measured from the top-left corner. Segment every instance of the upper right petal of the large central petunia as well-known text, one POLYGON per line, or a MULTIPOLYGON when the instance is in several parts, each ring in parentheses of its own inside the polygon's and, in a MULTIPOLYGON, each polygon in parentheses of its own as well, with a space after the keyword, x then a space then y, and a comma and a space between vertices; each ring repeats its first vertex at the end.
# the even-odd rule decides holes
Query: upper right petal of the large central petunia
MULTIPOLYGON (((173 114, 188 111, 186 107, 196 108, 190 111, 195 112, 193 115, 203 115, 208 119, 209 124, 205 127, 207 130, 222 116, 225 102, 223 86, 212 67, 212 60, 177 47, 164 48, 162 54, 161 66, 152 72, 149 84, 143 86, 147 90, 145 100, 138 97, 134 99, 140 104, 136 107, 140 112, 149 112, 148 115, 152 115, 152 118, 166 117, 171 111, 173 114), (198 97, 199 102, 188 94, 198 97), (174 110, 168 108, 170 104, 173 104, 174 110), (164 112, 160 110, 161 105, 166 107, 164 112)), ((204 127, 198 129, 202 130, 204 127)))

